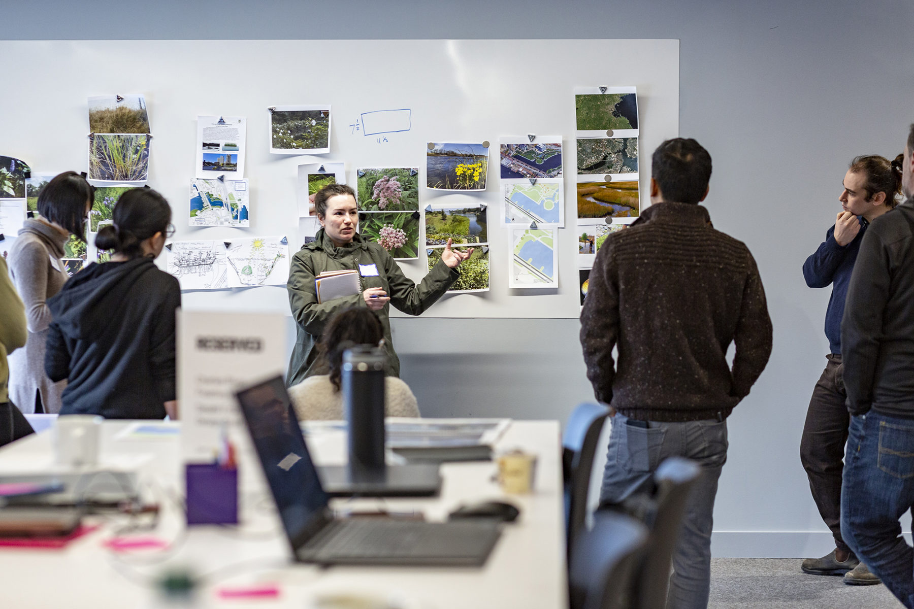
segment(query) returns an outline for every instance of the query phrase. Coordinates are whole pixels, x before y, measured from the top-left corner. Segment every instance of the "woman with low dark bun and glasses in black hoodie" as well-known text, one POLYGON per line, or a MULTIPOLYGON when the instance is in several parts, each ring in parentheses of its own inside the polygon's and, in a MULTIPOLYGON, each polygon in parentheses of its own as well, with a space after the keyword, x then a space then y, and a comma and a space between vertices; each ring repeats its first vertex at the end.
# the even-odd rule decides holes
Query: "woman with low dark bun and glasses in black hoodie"
POLYGON ((177 279, 154 259, 171 236, 171 208, 151 188, 121 195, 95 237, 109 262, 84 268, 48 301, 54 315, 45 370, 68 380, 61 415, 177 418, 177 279))

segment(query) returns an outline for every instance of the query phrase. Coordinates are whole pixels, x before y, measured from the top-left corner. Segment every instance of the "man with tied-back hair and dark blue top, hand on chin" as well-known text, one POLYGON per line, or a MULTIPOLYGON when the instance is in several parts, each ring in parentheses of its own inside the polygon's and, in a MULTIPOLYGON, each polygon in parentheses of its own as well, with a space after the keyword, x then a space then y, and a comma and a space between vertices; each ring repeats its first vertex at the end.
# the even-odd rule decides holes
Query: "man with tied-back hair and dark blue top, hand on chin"
POLYGON ((832 286, 825 313, 829 354, 825 370, 815 383, 806 411, 800 442, 800 461, 809 478, 813 500, 822 520, 832 531, 834 550, 802 562, 802 571, 814 575, 844 575, 845 583, 866 585, 878 578, 857 560, 841 536, 841 472, 850 416, 845 406, 844 366, 841 360, 841 317, 854 270, 857 251, 866 227, 898 205, 901 192, 901 155, 894 163, 877 156, 858 156, 845 173, 838 197, 841 211, 825 233, 822 245, 806 258, 803 277, 810 288, 832 286))

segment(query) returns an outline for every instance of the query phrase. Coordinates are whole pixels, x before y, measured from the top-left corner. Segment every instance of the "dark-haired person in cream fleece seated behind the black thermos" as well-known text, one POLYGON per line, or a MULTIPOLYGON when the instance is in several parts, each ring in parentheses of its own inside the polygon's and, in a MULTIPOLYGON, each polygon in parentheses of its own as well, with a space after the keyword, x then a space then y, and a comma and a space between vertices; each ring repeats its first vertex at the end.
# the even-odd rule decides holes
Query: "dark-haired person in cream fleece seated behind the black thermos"
MULTIPOLYGON (((300 419, 342 419, 343 352, 355 345, 383 343, 384 326, 374 312, 353 307, 336 313, 324 328, 316 347, 318 364, 325 374, 309 376, 289 388, 295 414, 300 419)), ((384 379, 384 397, 386 415, 419 416, 416 396, 399 378, 388 376, 384 379)))

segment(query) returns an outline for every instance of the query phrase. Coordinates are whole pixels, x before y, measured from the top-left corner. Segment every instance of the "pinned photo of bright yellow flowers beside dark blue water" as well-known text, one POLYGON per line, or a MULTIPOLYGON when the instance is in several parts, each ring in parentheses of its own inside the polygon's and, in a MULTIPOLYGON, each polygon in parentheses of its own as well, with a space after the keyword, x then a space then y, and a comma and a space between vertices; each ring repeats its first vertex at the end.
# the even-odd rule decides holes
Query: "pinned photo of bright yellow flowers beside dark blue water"
POLYGON ((489 149, 481 143, 434 143, 425 156, 425 182, 434 190, 485 190, 489 149))

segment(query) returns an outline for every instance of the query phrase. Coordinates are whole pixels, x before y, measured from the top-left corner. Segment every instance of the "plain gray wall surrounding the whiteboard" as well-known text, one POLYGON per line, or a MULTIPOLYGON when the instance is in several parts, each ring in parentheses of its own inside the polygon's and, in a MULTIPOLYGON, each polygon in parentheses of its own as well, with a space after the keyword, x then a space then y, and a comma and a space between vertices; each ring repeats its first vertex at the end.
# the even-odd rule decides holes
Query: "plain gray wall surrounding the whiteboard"
MULTIPOLYGON (((768 369, 729 419, 716 551, 828 550, 797 454, 828 348, 822 327, 829 290, 806 288, 800 268, 834 222, 846 163, 860 153, 900 152, 914 121, 914 3, 3 4, 0 37, 10 39, 679 38, 681 133, 702 142, 715 159, 707 207, 717 228, 755 254, 775 328, 768 369)), ((24 68, 20 80, 7 72, 7 94, 11 82, 25 86, 27 78, 53 77, 24 68)), ((594 78, 611 75, 607 58, 605 73, 594 78)), ((250 86, 269 86, 250 78, 250 86)), ((576 320, 396 320, 394 331, 403 376, 429 415, 563 418, 591 397, 576 320)))

